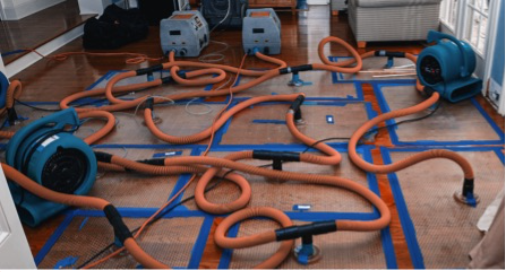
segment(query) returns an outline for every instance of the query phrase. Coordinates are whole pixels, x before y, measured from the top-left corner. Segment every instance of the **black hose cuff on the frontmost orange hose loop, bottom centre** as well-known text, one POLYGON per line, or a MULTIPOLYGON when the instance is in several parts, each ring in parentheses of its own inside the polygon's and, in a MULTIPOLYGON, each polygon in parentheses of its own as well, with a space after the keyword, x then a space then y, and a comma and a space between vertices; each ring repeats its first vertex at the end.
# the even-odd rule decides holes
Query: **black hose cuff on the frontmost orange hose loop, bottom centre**
POLYGON ((292 226, 275 230, 277 241, 292 240, 300 237, 325 234, 337 231, 335 220, 314 222, 309 225, 292 226))

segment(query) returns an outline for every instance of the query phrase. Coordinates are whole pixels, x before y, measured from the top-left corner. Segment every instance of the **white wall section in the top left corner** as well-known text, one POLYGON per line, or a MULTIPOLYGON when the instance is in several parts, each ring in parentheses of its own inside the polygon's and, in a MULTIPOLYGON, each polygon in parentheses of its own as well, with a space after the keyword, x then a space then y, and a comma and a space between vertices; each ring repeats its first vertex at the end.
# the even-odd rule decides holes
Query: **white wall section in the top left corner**
POLYGON ((65 0, 0 0, 2 20, 19 20, 65 0))

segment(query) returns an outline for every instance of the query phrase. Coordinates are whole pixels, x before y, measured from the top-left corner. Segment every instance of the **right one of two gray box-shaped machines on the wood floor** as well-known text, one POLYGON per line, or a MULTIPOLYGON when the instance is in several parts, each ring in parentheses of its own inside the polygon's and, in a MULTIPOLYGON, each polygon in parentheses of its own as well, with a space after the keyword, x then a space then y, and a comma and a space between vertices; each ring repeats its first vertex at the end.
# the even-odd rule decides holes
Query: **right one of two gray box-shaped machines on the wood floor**
POLYGON ((252 55, 281 53, 281 21, 271 8, 248 9, 242 27, 244 52, 252 55))

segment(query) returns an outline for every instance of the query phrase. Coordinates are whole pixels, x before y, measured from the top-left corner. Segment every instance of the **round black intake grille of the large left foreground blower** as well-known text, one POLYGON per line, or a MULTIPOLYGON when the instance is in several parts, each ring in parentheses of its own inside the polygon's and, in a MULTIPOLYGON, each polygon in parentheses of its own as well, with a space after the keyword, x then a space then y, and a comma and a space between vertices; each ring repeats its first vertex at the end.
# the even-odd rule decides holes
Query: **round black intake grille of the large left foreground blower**
POLYGON ((42 185, 60 193, 71 194, 86 178, 86 155, 75 148, 58 148, 44 165, 42 185))

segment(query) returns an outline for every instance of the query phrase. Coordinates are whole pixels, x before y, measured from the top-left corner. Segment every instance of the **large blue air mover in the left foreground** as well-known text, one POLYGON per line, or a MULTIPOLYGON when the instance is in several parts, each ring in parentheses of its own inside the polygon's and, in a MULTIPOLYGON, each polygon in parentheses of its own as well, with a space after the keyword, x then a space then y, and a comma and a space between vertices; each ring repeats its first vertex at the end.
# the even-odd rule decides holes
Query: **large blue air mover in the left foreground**
MULTIPOLYGON (((84 195, 93 186, 97 162, 93 150, 72 133, 79 118, 69 108, 20 129, 7 145, 7 164, 53 191, 84 195)), ((21 221, 37 226, 65 205, 41 199, 9 183, 21 221)))

